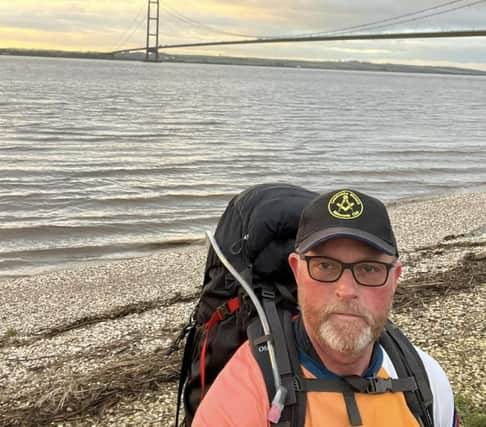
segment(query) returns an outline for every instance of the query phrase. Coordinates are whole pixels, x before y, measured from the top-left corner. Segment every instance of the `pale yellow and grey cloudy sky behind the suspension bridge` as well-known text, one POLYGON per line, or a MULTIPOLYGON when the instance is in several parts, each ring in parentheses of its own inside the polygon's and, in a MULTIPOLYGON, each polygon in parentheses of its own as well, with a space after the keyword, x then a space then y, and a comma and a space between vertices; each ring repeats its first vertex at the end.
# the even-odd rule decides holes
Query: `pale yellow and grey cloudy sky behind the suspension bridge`
MULTIPOLYGON (((148 0, 0 0, 0 48, 113 51, 143 47, 147 4, 148 0)), ((303 35, 377 21, 381 23, 368 32, 484 30, 486 0, 160 0, 159 43, 303 35), (414 14, 424 9, 428 10, 414 14), (435 15, 417 19, 431 14, 435 15), (402 20, 413 20, 383 26, 403 15, 402 20)), ((167 53, 486 70, 486 37, 237 45, 167 53)))

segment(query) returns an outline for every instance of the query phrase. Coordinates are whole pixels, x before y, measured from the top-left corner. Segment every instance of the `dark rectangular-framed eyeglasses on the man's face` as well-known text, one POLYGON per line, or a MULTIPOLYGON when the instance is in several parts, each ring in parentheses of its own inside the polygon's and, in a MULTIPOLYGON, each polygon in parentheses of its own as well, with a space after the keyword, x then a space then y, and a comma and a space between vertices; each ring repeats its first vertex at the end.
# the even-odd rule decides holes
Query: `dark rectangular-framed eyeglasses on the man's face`
POLYGON ((388 280, 388 274, 395 262, 359 261, 345 263, 337 259, 323 256, 300 255, 307 263, 309 276, 318 282, 337 282, 345 269, 351 270, 354 280, 362 286, 383 286, 388 280))

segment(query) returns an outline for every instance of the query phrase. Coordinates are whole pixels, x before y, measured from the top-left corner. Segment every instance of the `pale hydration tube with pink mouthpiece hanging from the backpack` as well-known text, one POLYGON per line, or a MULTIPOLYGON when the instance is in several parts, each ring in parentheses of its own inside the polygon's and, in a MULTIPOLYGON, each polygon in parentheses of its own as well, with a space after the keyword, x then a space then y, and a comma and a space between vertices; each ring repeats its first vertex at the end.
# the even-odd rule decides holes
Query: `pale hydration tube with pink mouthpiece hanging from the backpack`
MULTIPOLYGON (((268 323, 268 319, 265 314, 265 311, 263 310, 262 304, 260 303, 257 296, 255 295, 255 292, 248 284, 248 282, 245 279, 243 279, 243 277, 241 277, 241 275, 235 270, 235 268, 231 265, 228 259, 224 256, 214 236, 209 231, 206 232, 206 236, 209 242, 211 243, 211 246, 213 247, 214 251, 216 252, 216 255, 220 259, 220 261, 223 263, 226 269, 233 275, 233 277, 240 283, 240 285, 243 287, 243 289, 250 297, 253 305, 256 308, 258 318, 260 319, 260 322, 262 324, 263 332, 266 336, 270 337, 271 336, 270 325, 268 323)), ((268 420, 276 424, 278 423, 278 421, 280 420, 280 416, 282 415, 282 410, 285 405, 285 398, 287 397, 287 389, 282 385, 282 381, 280 380, 280 373, 277 366, 277 359, 275 357, 275 348, 273 346, 271 339, 267 341, 267 348, 268 348, 268 355, 270 357, 270 365, 272 367, 273 379, 275 382, 275 390, 276 390, 275 396, 270 406, 270 411, 268 412, 268 420)))

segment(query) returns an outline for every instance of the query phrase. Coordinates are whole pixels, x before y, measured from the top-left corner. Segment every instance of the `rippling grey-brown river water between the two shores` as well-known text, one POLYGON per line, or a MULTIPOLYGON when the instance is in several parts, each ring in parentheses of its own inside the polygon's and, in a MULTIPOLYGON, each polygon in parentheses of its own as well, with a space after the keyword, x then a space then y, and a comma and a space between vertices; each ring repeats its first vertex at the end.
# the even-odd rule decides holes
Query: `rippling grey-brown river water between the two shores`
POLYGON ((485 117, 484 77, 0 56, 0 277, 191 242, 262 182, 478 188, 485 117))

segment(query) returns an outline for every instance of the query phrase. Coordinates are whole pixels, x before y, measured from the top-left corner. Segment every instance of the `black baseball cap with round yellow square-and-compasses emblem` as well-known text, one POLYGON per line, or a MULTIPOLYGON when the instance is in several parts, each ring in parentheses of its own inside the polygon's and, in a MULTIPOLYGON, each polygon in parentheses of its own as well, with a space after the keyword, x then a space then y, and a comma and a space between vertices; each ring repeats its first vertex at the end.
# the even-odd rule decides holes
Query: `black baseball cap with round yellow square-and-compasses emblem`
POLYGON ((302 211, 295 250, 306 253, 326 240, 350 237, 398 257, 385 205, 355 190, 336 190, 313 199, 302 211))

